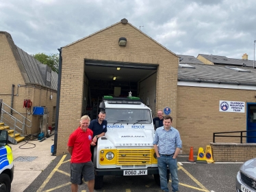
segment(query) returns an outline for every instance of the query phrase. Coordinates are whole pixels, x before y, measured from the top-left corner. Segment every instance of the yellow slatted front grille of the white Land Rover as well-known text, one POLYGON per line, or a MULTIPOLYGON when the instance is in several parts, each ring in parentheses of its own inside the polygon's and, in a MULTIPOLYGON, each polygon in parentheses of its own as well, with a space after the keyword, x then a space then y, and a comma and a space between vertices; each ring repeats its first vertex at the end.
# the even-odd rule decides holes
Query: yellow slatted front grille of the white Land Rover
POLYGON ((117 150, 116 165, 151 164, 152 150, 117 150))

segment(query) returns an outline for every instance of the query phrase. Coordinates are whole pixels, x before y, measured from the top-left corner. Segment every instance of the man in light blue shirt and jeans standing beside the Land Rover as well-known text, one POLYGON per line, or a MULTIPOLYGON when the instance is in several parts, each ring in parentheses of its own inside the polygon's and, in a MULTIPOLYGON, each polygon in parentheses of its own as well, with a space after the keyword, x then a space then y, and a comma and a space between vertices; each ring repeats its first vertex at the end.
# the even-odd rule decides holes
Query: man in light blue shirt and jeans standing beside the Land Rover
POLYGON ((166 180, 167 165, 170 169, 172 178, 172 191, 179 191, 179 178, 177 167, 177 156, 181 150, 182 141, 179 131, 172 127, 172 118, 170 115, 164 116, 164 126, 157 128, 153 146, 157 155, 157 166, 160 176, 160 187, 162 191, 168 190, 168 182, 166 180), (157 146, 158 145, 158 146, 157 146))

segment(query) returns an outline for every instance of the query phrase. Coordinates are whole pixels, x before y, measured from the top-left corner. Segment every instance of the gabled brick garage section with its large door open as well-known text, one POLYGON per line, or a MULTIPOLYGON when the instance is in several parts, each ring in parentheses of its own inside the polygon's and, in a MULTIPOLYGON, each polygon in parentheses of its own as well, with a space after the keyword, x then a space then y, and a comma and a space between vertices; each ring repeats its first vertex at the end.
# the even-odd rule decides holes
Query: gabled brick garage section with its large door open
POLYGON ((131 92, 151 108, 153 116, 157 109, 170 107, 176 119, 179 57, 127 19, 59 51, 56 155, 67 152, 68 137, 79 126, 81 115, 97 118, 104 95, 128 96, 131 92))

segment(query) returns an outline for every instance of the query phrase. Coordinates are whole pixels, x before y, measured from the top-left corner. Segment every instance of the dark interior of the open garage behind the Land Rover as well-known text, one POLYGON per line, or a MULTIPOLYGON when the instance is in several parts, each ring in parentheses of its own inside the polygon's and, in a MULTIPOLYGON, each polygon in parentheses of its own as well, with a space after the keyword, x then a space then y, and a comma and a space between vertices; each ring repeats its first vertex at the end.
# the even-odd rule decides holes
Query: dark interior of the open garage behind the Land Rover
POLYGON ((157 64, 85 59, 82 115, 97 118, 103 96, 138 96, 155 115, 157 64))

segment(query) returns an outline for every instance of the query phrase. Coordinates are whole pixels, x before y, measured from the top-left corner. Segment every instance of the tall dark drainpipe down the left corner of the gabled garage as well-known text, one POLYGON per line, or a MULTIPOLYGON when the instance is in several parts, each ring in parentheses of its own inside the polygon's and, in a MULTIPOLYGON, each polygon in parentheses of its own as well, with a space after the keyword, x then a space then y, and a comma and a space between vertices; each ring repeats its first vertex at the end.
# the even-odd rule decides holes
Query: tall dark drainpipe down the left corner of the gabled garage
POLYGON ((57 151, 57 130, 59 126, 59 112, 60 112, 60 83, 62 81, 62 48, 57 49, 60 51, 59 54, 59 72, 57 76, 57 103, 56 103, 56 120, 55 120, 55 129, 54 129, 54 146, 53 146, 53 154, 56 155, 57 151))

